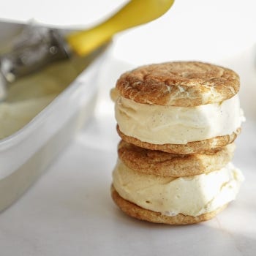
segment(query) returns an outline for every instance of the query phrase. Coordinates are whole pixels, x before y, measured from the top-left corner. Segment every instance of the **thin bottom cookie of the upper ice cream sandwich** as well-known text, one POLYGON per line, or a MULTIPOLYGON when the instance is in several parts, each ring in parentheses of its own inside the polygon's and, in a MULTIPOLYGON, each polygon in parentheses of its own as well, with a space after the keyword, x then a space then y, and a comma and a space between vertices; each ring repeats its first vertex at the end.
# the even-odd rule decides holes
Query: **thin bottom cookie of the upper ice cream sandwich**
POLYGON ((126 141, 127 143, 131 143, 140 148, 159 150, 173 154, 195 154, 199 152, 203 153, 205 151, 211 151, 214 148, 221 148, 223 146, 226 146, 227 144, 233 143, 233 141, 236 140, 237 135, 241 132, 241 128, 238 128, 236 132, 233 132, 231 135, 217 136, 207 140, 189 142, 187 144, 159 145, 147 143, 137 138, 124 135, 124 133, 120 131, 118 125, 116 126, 116 130, 121 139, 126 141))

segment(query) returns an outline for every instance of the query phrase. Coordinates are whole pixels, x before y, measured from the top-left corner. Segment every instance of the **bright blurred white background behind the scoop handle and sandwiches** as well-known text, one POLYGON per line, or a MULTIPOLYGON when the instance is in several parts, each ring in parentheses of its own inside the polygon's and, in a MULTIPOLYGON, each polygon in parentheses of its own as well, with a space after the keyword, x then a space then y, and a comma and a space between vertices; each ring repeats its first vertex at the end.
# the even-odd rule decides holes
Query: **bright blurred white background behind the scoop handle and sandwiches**
MULTIPOLYGON (((126 2, 0 1, 0 18, 86 29, 108 18, 126 2)), ((241 101, 246 115, 255 116, 255 24, 255 1, 252 0, 176 0, 161 18, 116 35, 111 54, 133 66, 199 60, 235 69, 241 76, 241 101)))

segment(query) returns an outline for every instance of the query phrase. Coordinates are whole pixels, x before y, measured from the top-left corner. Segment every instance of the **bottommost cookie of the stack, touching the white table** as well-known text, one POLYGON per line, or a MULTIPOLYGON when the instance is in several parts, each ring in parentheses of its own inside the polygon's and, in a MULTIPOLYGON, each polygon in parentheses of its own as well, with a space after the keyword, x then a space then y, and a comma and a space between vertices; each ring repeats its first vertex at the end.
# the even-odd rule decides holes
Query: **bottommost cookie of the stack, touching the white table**
POLYGON ((121 208, 121 211, 124 211, 124 213, 128 214, 130 217, 146 220, 148 222, 162 223, 162 224, 169 224, 169 225, 189 225, 189 224, 195 224, 198 222, 204 222, 208 219, 212 219, 220 211, 224 210, 227 207, 227 205, 225 205, 220 208, 217 208, 217 210, 215 211, 211 211, 206 214, 201 214, 197 217, 186 216, 184 214, 178 214, 173 217, 168 217, 168 216, 162 215, 159 212, 150 211, 145 208, 141 208, 140 206, 137 206, 134 203, 131 203, 125 200, 123 197, 118 195, 118 192, 116 192, 116 189, 113 187, 113 185, 111 187, 111 195, 116 205, 119 208, 121 208))

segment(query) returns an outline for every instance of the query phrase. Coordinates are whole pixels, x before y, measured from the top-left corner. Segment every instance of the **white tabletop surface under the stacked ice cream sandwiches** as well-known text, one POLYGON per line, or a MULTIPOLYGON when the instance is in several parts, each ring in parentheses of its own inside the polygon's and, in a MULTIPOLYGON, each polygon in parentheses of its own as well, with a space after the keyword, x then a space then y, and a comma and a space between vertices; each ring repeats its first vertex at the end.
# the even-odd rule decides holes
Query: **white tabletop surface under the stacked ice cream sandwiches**
POLYGON ((255 255, 256 119, 247 118, 237 139, 234 162, 246 181, 225 211, 189 226, 132 219, 110 197, 119 139, 108 91, 128 66, 112 61, 103 67, 94 118, 37 183, 1 212, 0 255, 255 255))

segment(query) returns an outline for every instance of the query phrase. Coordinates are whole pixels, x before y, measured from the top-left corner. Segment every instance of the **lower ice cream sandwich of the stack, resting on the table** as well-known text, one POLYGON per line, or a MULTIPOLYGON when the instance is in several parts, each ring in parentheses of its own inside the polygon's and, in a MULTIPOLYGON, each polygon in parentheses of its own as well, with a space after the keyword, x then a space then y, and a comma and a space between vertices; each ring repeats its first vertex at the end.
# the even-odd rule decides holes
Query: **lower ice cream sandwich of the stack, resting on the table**
POLYGON ((244 179, 229 161, 232 154, 231 145, 188 157, 121 142, 113 200, 129 216, 149 222, 187 225, 211 219, 236 198, 244 179))

